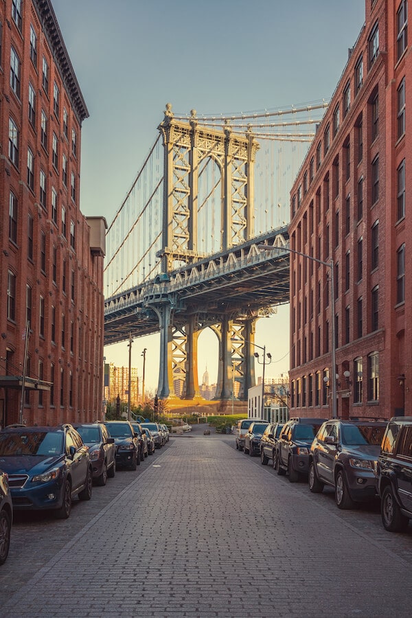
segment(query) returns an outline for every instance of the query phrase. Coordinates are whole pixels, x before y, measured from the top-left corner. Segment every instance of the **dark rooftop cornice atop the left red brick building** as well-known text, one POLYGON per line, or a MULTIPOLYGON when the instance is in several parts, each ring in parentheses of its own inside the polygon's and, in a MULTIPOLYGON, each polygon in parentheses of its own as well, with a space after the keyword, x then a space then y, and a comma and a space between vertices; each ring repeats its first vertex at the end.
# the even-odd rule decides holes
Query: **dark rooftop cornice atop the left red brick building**
POLYGON ((49 45, 52 48, 54 59, 56 60, 67 93, 71 99, 73 110, 76 112, 80 124, 82 124, 82 121, 89 117, 89 111, 87 110, 76 74, 71 65, 52 2, 51 0, 34 0, 33 3, 36 7, 38 17, 41 20, 49 45))

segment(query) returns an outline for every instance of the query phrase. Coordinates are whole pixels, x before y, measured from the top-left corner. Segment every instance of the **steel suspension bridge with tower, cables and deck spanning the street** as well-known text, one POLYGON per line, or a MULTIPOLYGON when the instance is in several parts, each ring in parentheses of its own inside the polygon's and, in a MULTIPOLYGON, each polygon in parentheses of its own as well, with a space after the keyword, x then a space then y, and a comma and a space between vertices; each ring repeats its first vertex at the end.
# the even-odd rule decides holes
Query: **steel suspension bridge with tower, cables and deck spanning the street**
POLYGON ((289 188, 327 102, 175 115, 106 235, 104 344, 160 332, 160 399, 198 400, 198 336, 218 338, 216 400, 255 385, 255 323, 289 300, 289 188), (261 251, 262 243, 277 251, 261 251), (233 376, 234 371, 234 376, 233 376))

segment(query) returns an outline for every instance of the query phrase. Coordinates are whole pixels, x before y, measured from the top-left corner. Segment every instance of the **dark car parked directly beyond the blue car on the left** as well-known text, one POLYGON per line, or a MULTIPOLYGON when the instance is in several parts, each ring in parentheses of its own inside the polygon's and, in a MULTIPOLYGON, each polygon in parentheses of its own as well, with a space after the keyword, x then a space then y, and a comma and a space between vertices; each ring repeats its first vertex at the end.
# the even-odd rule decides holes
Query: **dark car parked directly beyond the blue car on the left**
POLYGON ((93 481, 96 485, 106 485, 107 477, 113 479, 116 473, 115 439, 110 436, 103 423, 74 423, 84 444, 89 446, 93 481))

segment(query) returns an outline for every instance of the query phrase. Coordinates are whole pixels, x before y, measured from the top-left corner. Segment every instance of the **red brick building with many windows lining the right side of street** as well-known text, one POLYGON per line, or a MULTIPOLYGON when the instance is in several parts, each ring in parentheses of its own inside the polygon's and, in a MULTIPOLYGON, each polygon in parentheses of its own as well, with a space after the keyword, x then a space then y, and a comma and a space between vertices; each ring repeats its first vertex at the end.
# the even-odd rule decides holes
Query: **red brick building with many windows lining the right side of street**
POLYGON ((290 249, 328 264, 290 253, 291 416, 331 414, 336 376, 339 416, 411 411, 407 0, 366 0, 365 7, 365 25, 291 192, 290 249))

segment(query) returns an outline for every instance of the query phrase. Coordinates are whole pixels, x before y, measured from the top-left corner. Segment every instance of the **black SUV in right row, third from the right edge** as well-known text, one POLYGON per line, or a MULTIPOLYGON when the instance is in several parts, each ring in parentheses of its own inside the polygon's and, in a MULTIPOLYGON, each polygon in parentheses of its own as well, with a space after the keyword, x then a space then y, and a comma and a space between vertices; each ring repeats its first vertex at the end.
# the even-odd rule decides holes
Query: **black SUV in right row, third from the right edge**
POLYGON ((309 450, 325 418, 291 418, 284 424, 276 445, 277 474, 288 474, 296 483, 308 474, 309 450))

